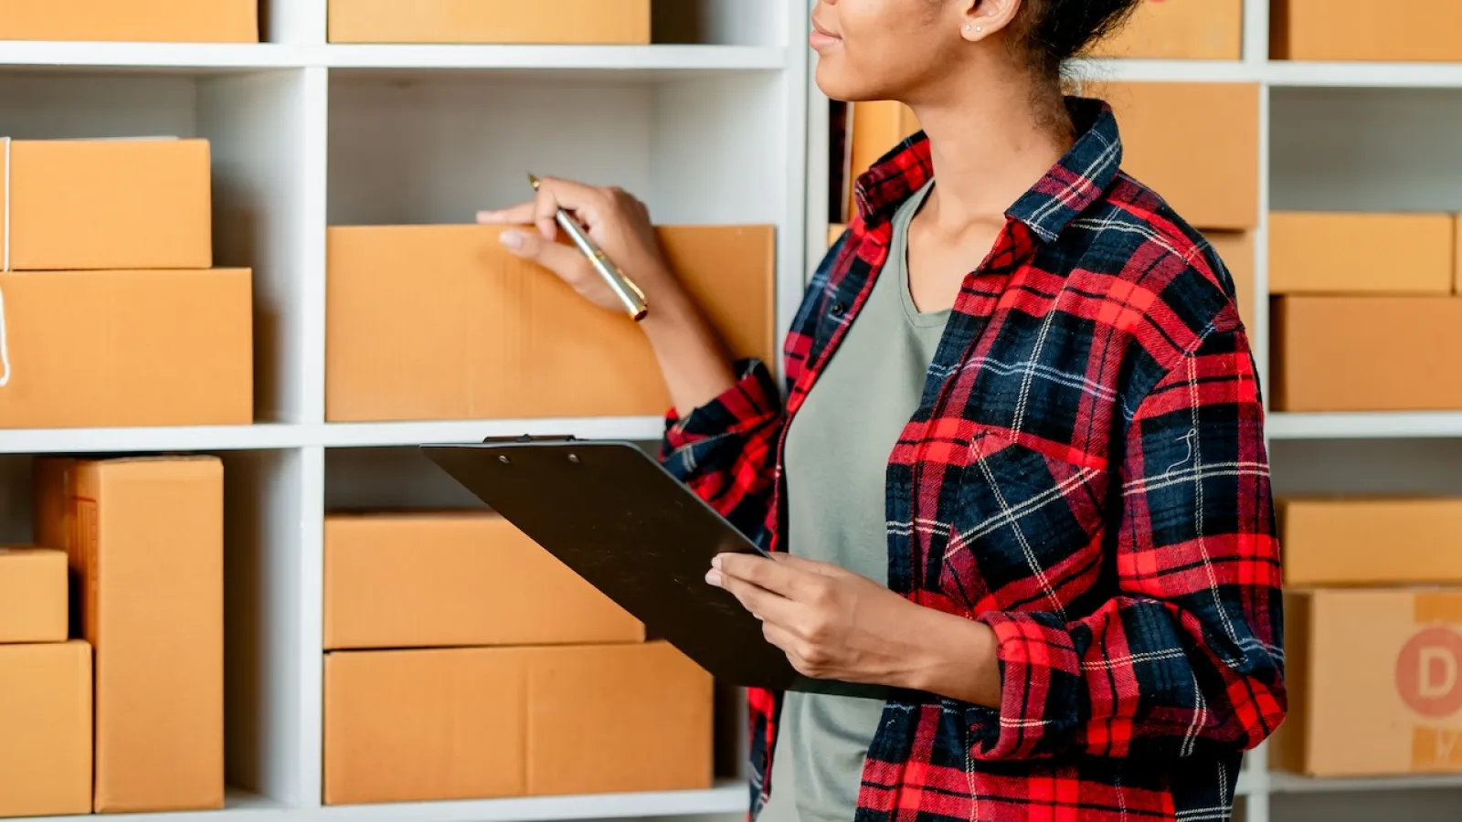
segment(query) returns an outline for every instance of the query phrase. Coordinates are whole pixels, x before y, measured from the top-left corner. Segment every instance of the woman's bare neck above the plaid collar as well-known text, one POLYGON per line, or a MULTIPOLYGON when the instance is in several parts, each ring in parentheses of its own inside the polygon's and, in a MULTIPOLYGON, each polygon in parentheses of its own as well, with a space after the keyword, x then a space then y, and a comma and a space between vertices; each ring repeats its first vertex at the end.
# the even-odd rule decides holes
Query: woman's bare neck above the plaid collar
POLYGON ((958 235, 1004 212, 1072 148, 1064 107, 1041 104, 1026 79, 965 79, 962 94, 911 101, 928 136, 939 184, 925 206, 931 228, 958 235), (994 80, 994 82, 993 82, 994 80))

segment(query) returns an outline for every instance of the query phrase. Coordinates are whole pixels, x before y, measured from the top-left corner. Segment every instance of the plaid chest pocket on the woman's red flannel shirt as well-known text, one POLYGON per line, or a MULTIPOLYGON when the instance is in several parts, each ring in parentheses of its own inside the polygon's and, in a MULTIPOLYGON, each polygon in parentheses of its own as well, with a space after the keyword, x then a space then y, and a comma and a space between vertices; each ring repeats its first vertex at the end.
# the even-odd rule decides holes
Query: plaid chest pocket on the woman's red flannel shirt
POLYGON ((961 472, 942 589, 969 611, 1066 616, 1102 573, 1111 508, 1105 461, 1003 429, 978 429, 961 472))

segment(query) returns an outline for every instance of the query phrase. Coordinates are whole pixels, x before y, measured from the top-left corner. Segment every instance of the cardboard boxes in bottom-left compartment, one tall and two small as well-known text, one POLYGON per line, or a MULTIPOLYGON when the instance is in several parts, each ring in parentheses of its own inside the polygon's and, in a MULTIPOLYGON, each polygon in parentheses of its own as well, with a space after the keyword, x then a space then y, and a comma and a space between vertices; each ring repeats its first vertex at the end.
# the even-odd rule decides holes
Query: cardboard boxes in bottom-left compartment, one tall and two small
POLYGON ((0 550, 0 816, 222 807, 219 461, 42 458, 32 496, 50 550, 0 550))

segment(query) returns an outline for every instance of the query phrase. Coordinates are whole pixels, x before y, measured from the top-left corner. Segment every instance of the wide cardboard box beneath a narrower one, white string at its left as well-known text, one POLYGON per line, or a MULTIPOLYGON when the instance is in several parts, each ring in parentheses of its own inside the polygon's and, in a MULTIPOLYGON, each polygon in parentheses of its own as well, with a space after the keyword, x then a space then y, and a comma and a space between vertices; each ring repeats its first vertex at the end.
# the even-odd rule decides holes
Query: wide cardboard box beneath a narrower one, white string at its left
POLYGON ((247 426, 249 269, 0 274, 0 429, 247 426))

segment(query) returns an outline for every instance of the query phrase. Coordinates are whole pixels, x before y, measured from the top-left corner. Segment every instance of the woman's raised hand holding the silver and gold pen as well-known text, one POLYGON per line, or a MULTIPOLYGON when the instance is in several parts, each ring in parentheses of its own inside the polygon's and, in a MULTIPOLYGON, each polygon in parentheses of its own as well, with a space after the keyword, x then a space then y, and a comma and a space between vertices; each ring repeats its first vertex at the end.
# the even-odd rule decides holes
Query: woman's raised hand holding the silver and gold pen
POLYGON ((484 225, 535 225, 534 230, 509 228, 501 243, 510 253, 532 260, 557 274, 591 303, 621 312, 623 306, 604 278, 576 247, 558 243, 558 208, 583 225, 589 237, 645 291, 648 304, 668 297, 674 278, 655 238, 649 209, 623 189, 598 189, 572 180, 545 177, 538 196, 501 211, 484 211, 477 221, 484 225))

